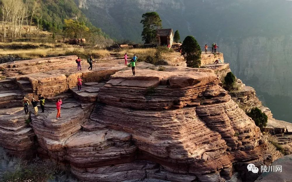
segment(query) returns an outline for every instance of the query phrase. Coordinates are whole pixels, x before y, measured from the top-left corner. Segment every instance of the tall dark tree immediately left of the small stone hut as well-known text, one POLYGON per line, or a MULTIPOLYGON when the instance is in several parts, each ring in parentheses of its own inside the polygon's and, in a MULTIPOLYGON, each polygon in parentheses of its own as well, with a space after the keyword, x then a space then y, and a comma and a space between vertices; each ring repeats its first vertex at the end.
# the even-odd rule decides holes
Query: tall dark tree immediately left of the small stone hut
POLYGON ((140 23, 143 24, 142 41, 145 44, 154 43, 156 39, 156 29, 162 27, 162 21, 156 12, 147 12, 142 15, 140 23))

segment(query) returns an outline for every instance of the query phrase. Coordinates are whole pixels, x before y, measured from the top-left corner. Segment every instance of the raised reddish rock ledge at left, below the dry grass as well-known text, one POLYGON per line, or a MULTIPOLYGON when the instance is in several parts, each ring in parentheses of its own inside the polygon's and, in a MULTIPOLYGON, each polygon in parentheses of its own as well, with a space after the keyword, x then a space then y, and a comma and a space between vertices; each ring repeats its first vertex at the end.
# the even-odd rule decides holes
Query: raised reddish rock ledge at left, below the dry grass
MULTIPOLYGON (((0 64, 0 67, 3 69, 2 74, 8 78, 9 83, 17 84, 29 98, 37 97, 39 94, 45 97, 53 97, 64 93, 69 88, 77 86, 77 76, 82 77, 84 83, 100 82, 125 68, 116 60, 112 67, 107 67, 103 63, 95 63, 92 71, 87 69, 78 71, 75 63, 76 58, 77 56, 39 58, 4 63, 0 64)), ((1 83, 4 82, 1 81, 1 83)), ((11 86, 9 86, 9 89, 11 89, 11 86)), ((10 96, 11 93, 6 93, 5 96, 8 97, 8 95, 10 96)))

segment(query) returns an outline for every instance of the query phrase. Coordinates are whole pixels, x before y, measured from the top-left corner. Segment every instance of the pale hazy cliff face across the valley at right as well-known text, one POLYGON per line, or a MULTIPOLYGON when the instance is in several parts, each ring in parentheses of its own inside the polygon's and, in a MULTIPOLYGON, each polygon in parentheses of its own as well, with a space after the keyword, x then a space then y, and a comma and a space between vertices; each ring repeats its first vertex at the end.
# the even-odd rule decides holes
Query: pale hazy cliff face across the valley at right
POLYGON ((225 61, 237 77, 256 89, 275 118, 291 122, 291 36, 225 39, 222 45, 225 61))

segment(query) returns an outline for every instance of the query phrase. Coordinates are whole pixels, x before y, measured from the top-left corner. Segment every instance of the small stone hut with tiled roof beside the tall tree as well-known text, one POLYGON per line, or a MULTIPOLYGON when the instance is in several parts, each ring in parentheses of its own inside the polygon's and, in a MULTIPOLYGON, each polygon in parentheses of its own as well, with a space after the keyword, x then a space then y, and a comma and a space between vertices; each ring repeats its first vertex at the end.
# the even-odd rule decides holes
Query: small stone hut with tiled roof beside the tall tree
POLYGON ((156 31, 156 44, 158 46, 167 46, 168 44, 172 46, 173 43, 173 30, 169 29, 157 29, 156 31))

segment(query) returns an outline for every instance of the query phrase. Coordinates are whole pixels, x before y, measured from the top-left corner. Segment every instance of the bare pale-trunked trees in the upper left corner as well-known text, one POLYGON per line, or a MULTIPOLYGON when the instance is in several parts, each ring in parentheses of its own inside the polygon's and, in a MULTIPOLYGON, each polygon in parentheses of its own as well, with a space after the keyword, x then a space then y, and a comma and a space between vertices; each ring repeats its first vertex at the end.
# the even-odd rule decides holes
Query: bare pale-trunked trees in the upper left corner
POLYGON ((33 17, 41 19, 40 0, 1 0, 3 41, 8 34, 12 41, 22 34, 22 26, 26 24, 26 32, 30 32, 33 17))

